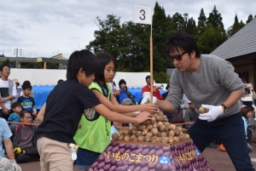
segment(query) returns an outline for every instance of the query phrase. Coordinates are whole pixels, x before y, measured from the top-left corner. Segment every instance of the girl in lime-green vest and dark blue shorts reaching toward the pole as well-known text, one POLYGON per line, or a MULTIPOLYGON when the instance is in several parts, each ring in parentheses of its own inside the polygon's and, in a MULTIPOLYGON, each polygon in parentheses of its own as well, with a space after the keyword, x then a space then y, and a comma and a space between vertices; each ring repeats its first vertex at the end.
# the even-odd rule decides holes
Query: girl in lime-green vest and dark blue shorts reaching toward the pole
MULTIPOLYGON (((116 60, 107 53, 97 53, 96 58, 99 68, 96 71, 95 81, 90 84, 90 89, 96 97, 106 105, 109 110, 123 113, 130 117, 136 117, 134 111, 149 111, 155 113, 157 105, 119 105, 116 98, 111 94, 108 83, 113 81, 116 69, 116 60)), ((121 123, 121 122, 119 122, 121 123)), ((127 122, 126 122, 127 123, 127 122)), ((97 112, 84 111, 79 128, 74 140, 79 145, 77 163, 79 169, 87 170, 100 156, 102 151, 110 143, 111 123, 107 118, 97 112)))

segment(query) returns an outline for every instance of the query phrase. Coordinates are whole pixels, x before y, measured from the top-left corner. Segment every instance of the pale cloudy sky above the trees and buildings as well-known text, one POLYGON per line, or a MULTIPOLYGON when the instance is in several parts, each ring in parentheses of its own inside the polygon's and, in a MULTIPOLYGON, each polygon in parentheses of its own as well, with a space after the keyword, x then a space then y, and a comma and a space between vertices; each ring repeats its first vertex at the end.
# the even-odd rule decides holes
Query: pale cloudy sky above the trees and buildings
MULTIPOLYGON (((95 39, 96 17, 108 14, 120 17, 121 23, 133 20, 133 5, 147 6, 154 11, 153 0, 0 0, 0 54, 19 57, 69 58, 95 39), (20 50, 21 49, 21 50, 20 50), (20 55, 21 52, 21 55, 20 55)), ((197 23, 201 9, 206 16, 216 5, 224 28, 233 25, 235 15, 246 23, 256 14, 255 0, 159 0, 166 15, 188 13, 197 23)))

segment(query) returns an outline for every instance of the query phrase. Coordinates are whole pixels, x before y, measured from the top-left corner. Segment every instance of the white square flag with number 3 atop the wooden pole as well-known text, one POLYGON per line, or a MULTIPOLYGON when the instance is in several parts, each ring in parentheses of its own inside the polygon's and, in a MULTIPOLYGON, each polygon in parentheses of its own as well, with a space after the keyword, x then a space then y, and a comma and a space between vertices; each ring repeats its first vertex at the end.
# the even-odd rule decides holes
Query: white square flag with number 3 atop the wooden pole
POLYGON ((151 25, 152 24, 151 7, 134 5, 133 6, 133 22, 151 25))

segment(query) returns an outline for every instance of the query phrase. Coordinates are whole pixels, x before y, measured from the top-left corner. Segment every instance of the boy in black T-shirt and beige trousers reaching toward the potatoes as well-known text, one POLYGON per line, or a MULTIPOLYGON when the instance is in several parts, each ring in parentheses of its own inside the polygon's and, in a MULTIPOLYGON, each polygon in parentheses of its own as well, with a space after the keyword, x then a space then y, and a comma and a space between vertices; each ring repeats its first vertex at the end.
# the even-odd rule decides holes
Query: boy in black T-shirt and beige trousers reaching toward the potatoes
POLYGON ((72 151, 68 143, 78 128, 84 110, 97 111, 110 121, 142 123, 150 117, 142 112, 126 117, 109 111, 88 88, 94 79, 97 60, 88 50, 71 54, 67 64, 67 81, 57 84, 46 101, 44 120, 38 127, 38 152, 41 170, 73 170, 72 151))

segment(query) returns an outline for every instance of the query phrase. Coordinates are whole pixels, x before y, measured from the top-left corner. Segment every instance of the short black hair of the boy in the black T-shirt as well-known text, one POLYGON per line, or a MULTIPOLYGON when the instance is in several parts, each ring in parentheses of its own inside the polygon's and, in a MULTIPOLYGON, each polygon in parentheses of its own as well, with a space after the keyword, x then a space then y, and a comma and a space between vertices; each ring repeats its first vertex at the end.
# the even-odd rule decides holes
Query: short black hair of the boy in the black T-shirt
POLYGON ((77 74, 82 68, 86 77, 90 77, 97 70, 97 60, 89 50, 75 51, 70 55, 67 63, 67 80, 78 80, 77 74))

